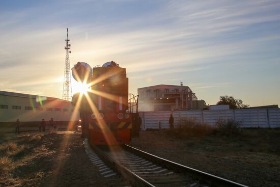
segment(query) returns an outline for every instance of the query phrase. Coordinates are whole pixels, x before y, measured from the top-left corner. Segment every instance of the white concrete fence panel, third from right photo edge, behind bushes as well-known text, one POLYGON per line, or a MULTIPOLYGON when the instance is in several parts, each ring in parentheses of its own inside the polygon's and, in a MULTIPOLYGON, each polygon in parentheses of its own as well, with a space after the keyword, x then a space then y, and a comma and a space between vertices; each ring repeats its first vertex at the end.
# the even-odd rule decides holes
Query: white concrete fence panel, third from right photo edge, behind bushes
POLYGON ((216 125, 217 122, 222 120, 233 120, 234 113, 233 110, 212 110, 212 111, 203 111, 203 121, 210 125, 216 125))

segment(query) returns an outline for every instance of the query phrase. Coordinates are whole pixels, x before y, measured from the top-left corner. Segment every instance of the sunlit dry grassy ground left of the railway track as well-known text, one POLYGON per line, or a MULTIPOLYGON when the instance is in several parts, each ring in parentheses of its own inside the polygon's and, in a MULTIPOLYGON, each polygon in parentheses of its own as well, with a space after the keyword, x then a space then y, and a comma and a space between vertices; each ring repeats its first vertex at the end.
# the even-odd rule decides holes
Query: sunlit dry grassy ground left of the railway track
MULTIPOLYGON (((10 163, 0 163, 5 171, 0 171, 0 186, 126 185, 120 176, 105 179, 99 173, 85 153, 79 134, 58 132, 32 137, 21 135, 0 140, 1 145, 14 142, 26 148, 24 153, 8 156, 10 163)), ((5 157, 6 151, 5 147, 0 151, 0 158, 5 157)))

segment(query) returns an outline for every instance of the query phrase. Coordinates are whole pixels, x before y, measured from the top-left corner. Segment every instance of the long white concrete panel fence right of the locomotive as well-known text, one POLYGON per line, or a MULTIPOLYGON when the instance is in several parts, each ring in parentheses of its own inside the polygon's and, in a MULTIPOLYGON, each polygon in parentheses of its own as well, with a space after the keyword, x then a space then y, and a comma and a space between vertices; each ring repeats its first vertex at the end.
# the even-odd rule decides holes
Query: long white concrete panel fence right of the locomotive
POLYGON ((158 111, 139 112, 142 129, 169 128, 169 117, 173 114, 175 127, 180 119, 189 118, 201 123, 216 125, 219 120, 233 120, 241 127, 280 128, 280 109, 238 109, 238 110, 195 110, 195 111, 158 111))

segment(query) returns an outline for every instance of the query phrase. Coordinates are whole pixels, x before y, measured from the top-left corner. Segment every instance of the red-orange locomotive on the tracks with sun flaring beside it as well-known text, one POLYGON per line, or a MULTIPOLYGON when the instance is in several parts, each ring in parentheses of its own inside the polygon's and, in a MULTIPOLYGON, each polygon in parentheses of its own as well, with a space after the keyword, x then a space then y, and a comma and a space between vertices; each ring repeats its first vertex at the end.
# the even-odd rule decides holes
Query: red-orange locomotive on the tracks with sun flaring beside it
POLYGON ((80 110, 82 136, 92 145, 122 145, 136 126, 138 96, 128 93, 126 69, 114 61, 102 66, 78 62, 72 76, 86 87, 72 97, 80 110))

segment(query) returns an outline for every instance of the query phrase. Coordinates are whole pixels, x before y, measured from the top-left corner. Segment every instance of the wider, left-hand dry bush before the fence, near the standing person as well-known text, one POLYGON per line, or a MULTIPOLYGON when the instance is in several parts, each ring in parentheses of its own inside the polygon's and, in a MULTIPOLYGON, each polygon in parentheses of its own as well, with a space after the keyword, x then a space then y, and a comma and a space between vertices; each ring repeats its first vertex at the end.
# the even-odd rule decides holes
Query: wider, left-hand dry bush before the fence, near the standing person
POLYGON ((214 129, 215 127, 200 123, 195 118, 181 118, 178 126, 173 130, 167 130, 167 133, 177 138, 200 137, 209 135, 214 129))

